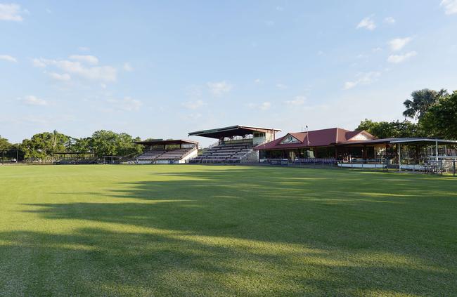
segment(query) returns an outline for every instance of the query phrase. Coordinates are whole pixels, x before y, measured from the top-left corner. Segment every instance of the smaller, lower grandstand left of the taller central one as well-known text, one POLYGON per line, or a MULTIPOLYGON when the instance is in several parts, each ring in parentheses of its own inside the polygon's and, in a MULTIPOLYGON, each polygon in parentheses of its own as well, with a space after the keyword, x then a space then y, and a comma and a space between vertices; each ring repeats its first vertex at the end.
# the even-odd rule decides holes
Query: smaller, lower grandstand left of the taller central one
POLYGON ((136 144, 145 147, 143 154, 136 157, 138 164, 181 164, 198 154, 198 142, 192 140, 154 139, 136 144))

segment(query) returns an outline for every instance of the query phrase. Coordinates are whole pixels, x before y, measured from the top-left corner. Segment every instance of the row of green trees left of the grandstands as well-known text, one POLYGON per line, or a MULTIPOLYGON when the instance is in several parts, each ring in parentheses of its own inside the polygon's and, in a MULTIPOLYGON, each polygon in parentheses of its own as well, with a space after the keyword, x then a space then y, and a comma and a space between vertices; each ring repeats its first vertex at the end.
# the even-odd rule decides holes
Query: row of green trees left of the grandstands
POLYGON ((140 154, 142 145, 134 144, 141 138, 133 138, 127 133, 100 130, 86 138, 66 136, 54 130, 53 132, 37 133, 22 143, 11 144, 0 136, 0 151, 20 151, 20 159, 29 161, 56 161, 56 153, 93 153, 96 157, 129 156, 140 154))

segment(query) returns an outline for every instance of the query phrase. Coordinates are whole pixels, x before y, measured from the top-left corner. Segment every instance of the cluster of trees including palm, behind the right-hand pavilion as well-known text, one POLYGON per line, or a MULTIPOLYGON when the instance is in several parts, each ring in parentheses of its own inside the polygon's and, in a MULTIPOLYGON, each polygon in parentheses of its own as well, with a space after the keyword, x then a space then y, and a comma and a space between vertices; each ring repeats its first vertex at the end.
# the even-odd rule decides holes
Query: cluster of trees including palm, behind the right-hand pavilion
POLYGON ((376 138, 430 137, 457 139, 457 91, 424 88, 413 91, 403 103, 404 121, 364 119, 356 128, 376 138))

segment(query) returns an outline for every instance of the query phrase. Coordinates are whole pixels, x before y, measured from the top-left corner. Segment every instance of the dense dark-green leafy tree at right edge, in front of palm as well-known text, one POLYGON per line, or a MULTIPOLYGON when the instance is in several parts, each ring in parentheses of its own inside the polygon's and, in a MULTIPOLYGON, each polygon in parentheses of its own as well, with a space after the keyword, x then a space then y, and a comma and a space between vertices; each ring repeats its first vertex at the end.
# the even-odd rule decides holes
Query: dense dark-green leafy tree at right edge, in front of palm
POLYGON ((440 98, 427 110, 419 124, 427 136, 457 139, 457 91, 440 98))

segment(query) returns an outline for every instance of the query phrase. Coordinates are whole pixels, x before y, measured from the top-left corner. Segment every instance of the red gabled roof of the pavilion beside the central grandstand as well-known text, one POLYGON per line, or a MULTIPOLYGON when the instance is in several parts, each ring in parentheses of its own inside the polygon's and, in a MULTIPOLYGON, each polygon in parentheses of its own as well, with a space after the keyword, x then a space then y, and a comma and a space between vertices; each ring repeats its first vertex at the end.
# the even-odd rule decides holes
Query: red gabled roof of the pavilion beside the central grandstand
POLYGON ((368 139, 374 139, 374 136, 366 131, 348 131, 342 128, 328 128, 309 132, 288 133, 281 138, 270 141, 269 143, 258 145, 254 149, 283 150, 299 147, 326 147, 329 145, 335 145, 337 143, 347 143, 348 141, 350 142, 352 138, 358 136, 359 134, 363 134, 363 136, 366 136, 368 139), (288 136, 296 138, 298 142, 282 143, 283 140, 288 138, 288 136))

